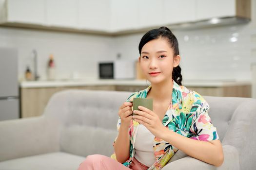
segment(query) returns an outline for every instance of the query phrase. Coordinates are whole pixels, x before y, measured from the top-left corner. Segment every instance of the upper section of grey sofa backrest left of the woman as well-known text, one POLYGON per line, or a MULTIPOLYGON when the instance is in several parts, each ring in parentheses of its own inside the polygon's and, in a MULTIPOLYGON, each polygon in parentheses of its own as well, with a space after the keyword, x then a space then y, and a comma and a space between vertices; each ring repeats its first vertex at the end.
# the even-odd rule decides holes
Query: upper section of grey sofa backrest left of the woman
POLYGON ((117 129, 118 109, 132 92, 64 90, 55 93, 44 115, 66 126, 117 129))

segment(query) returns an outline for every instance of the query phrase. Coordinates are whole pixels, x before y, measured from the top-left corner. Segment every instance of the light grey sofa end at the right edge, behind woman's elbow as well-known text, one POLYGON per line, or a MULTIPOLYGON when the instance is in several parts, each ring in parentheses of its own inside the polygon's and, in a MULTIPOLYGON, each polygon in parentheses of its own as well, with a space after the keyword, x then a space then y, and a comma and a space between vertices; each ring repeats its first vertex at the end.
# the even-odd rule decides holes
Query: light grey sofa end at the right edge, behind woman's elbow
POLYGON ((255 169, 256 156, 256 100, 244 98, 237 106, 229 128, 222 140, 223 145, 234 146, 239 153, 239 163, 242 170, 255 169))

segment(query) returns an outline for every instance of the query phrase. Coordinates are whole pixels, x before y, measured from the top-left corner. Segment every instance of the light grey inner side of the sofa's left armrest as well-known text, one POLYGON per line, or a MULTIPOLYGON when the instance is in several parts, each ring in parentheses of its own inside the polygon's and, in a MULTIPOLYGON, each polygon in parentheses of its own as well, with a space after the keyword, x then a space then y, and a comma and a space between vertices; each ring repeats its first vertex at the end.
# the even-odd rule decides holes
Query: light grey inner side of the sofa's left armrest
POLYGON ((44 116, 0 121, 0 161, 59 151, 58 131, 44 116))

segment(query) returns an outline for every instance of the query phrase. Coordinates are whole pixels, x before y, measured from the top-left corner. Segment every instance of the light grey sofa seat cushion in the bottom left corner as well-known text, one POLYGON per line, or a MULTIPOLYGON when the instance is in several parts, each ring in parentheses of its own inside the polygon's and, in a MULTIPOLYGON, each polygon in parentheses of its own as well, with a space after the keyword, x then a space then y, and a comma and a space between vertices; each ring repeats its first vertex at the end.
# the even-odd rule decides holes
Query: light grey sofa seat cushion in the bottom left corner
POLYGON ((0 170, 77 170, 84 160, 70 153, 46 153, 0 162, 0 170))

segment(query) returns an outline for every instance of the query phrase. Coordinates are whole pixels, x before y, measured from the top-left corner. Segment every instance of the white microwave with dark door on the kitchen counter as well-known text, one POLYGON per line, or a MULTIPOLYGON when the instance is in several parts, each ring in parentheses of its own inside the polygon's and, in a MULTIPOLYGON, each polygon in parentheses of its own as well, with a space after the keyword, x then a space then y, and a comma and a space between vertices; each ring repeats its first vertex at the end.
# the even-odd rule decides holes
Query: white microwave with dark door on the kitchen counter
POLYGON ((99 79, 135 79, 135 62, 129 60, 98 63, 99 79))

